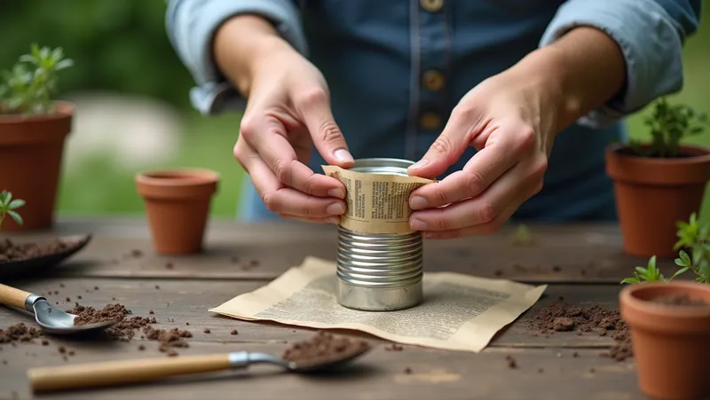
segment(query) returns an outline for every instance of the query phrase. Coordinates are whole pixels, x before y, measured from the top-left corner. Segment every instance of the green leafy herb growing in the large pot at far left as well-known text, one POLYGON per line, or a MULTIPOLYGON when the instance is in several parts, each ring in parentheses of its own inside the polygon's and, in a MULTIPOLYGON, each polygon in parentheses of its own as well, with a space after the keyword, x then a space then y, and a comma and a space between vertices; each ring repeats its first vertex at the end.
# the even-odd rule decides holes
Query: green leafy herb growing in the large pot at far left
POLYGON ((33 43, 29 54, 20 56, 12 69, 0 75, 0 114, 51 113, 57 73, 73 65, 73 60, 64 58, 62 48, 40 48, 33 43))

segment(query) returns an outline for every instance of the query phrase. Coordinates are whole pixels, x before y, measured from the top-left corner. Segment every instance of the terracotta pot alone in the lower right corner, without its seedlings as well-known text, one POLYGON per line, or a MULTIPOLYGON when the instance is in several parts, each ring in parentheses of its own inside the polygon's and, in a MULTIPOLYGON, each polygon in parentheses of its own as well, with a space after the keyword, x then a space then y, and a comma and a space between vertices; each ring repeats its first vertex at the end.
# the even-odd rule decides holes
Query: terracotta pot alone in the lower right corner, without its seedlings
POLYGON ((710 393, 710 285, 690 281, 644 283, 619 294, 621 318, 630 330, 638 385, 646 396, 697 400, 710 393), (708 306, 667 305, 654 298, 687 294, 708 306))

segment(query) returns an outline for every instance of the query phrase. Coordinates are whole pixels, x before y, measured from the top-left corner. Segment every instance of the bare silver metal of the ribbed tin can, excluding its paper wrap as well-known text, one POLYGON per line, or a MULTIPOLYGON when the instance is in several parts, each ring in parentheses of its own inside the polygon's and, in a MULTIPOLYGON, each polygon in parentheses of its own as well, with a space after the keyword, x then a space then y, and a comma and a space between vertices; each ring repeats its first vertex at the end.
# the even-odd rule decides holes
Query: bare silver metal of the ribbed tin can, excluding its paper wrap
MULTIPOLYGON (((353 171, 408 176, 413 161, 361 159, 353 171)), ((338 302, 355 310, 391 311, 422 302, 422 235, 364 233, 338 227, 338 302)))

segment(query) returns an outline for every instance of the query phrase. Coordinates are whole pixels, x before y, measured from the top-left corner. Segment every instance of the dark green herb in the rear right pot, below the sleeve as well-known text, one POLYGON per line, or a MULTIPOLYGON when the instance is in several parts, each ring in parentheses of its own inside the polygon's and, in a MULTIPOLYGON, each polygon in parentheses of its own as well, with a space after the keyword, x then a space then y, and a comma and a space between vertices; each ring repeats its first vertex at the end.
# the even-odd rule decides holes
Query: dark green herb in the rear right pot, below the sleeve
POLYGON ((629 145, 642 157, 677 157, 680 142, 685 137, 701 134, 706 123, 706 115, 696 113, 690 106, 671 105, 666 98, 659 98, 651 116, 644 120, 651 130, 651 143, 644 148, 640 140, 633 139, 629 145))

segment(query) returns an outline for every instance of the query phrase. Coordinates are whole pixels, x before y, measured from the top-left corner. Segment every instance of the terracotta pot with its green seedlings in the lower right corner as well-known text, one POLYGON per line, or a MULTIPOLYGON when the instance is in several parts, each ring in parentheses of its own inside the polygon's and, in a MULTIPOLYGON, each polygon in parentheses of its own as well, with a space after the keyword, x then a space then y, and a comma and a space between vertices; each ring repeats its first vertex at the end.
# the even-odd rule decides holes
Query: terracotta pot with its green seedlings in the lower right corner
POLYGON ((699 399, 710 394, 705 365, 710 358, 710 226, 699 226, 696 216, 678 223, 675 263, 680 267, 665 278, 651 257, 647 267, 636 267, 634 278, 624 279, 619 294, 621 318, 631 333, 639 387, 651 398, 699 399), (686 271, 695 282, 674 278, 686 271))

